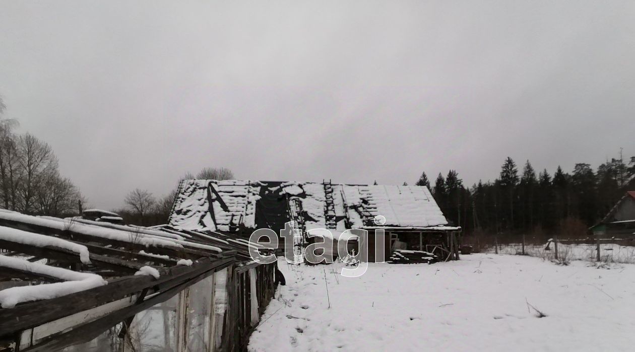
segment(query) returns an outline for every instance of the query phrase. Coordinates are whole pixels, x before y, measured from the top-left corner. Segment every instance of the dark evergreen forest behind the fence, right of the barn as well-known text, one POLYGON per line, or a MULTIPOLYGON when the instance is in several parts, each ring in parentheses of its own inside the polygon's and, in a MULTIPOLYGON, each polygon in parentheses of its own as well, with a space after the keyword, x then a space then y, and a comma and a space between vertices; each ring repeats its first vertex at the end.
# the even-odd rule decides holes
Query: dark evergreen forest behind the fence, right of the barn
POLYGON ((467 235, 561 233, 580 238, 626 191, 635 190, 635 157, 628 162, 612 158, 596 171, 587 163, 575 164, 572 173, 558 166, 554 174, 547 169, 536 173, 530 160, 519 171, 507 157, 494 181, 466 187, 457 171, 450 170, 445 177, 439 173, 434 185, 423 172, 415 185, 427 186, 446 219, 467 235))

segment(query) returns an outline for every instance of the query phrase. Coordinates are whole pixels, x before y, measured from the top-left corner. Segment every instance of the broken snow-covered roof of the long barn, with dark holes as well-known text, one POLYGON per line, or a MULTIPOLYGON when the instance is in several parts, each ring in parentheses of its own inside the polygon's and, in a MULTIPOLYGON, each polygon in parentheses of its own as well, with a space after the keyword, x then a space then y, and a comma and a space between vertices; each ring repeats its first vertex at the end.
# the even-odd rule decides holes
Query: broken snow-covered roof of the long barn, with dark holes
POLYGON ((425 186, 330 182, 185 180, 180 184, 169 223, 188 230, 279 230, 281 221, 272 221, 274 208, 279 208, 277 215, 284 223, 291 221, 290 204, 301 208, 307 230, 458 230, 447 226, 448 221, 425 186), (375 216, 384 216, 385 223, 373 223, 375 216), (273 222, 277 225, 271 226, 273 222))

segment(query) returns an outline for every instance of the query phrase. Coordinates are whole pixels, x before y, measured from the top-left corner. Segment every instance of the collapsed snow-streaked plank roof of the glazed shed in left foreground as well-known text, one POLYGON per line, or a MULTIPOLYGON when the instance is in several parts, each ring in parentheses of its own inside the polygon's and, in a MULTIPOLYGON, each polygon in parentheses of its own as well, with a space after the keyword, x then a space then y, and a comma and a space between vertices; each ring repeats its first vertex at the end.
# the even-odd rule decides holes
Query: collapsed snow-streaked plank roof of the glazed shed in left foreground
POLYGON ((255 265, 250 247, 262 248, 218 232, 0 209, 0 350, 87 341, 215 271, 255 265))

